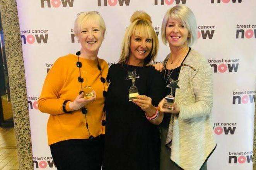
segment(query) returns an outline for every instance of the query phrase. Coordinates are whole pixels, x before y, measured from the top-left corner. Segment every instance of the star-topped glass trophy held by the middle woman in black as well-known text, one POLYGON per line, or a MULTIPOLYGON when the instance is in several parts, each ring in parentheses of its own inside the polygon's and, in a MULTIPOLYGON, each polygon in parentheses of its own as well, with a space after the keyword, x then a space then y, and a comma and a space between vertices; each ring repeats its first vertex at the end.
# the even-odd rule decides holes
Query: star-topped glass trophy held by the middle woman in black
POLYGON ((131 80, 132 82, 132 85, 129 88, 129 102, 137 98, 137 95, 139 95, 138 88, 135 86, 136 78, 140 78, 140 76, 136 74, 136 70, 133 70, 132 72, 128 71, 128 77, 126 78, 126 80, 131 80))

